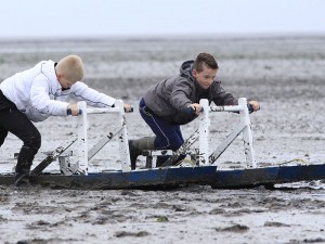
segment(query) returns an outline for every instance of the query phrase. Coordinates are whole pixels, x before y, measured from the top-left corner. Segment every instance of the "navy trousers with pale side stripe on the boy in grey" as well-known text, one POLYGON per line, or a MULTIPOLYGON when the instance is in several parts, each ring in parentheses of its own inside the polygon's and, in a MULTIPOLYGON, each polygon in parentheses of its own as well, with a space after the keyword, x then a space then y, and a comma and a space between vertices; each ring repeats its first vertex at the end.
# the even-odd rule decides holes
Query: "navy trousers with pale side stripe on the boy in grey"
POLYGON ((177 151, 181 147, 184 143, 184 139, 179 125, 170 125, 161 117, 156 116, 148 107, 146 107, 143 99, 139 103, 139 108, 142 118, 156 134, 156 149, 177 151))

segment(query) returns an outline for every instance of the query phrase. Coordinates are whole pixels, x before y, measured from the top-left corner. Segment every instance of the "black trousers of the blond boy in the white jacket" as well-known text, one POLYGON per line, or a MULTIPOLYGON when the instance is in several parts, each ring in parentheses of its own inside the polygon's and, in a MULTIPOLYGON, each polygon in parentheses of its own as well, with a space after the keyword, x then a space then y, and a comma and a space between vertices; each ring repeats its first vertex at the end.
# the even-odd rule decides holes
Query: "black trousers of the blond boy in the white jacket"
POLYGON ((15 104, 9 101, 0 90, 0 146, 8 132, 23 141, 16 171, 24 167, 30 167, 35 154, 41 146, 41 136, 26 115, 18 111, 15 104))

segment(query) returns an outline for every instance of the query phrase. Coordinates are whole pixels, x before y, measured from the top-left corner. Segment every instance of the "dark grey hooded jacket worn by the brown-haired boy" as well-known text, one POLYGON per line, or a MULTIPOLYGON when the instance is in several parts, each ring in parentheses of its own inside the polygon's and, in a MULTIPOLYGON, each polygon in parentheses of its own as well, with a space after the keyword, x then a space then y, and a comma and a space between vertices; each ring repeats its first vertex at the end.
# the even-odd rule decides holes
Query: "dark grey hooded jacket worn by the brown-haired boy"
POLYGON ((236 105, 237 100, 226 92, 219 80, 214 80, 208 89, 203 89, 192 76, 194 61, 186 61, 178 76, 165 79, 151 87, 143 99, 146 106, 156 115, 172 125, 185 125, 197 117, 185 113, 192 103, 208 99, 216 105, 236 105))

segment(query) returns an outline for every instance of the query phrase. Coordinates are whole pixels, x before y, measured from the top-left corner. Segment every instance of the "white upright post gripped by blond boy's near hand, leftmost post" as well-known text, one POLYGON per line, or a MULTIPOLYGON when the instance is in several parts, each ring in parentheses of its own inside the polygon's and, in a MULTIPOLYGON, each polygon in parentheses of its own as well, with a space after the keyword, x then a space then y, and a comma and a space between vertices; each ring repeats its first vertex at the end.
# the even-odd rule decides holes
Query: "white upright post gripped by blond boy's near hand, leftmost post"
POLYGON ((84 101, 77 103, 80 114, 78 116, 78 139, 77 139, 77 160, 78 172, 88 175, 88 121, 87 103, 84 101))

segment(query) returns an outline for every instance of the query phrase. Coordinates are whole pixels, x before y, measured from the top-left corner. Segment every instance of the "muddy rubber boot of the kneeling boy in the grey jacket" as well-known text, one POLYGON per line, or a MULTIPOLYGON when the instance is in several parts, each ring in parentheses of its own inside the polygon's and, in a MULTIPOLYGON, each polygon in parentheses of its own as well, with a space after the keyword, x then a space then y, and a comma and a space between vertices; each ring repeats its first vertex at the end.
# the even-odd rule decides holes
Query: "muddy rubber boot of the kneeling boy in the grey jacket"
POLYGON ((142 155, 143 150, 154 150, 155 149, 156 137, 145 137, 138 140, 129 140, 131 169, 136 167, 136 158, 142 155))

